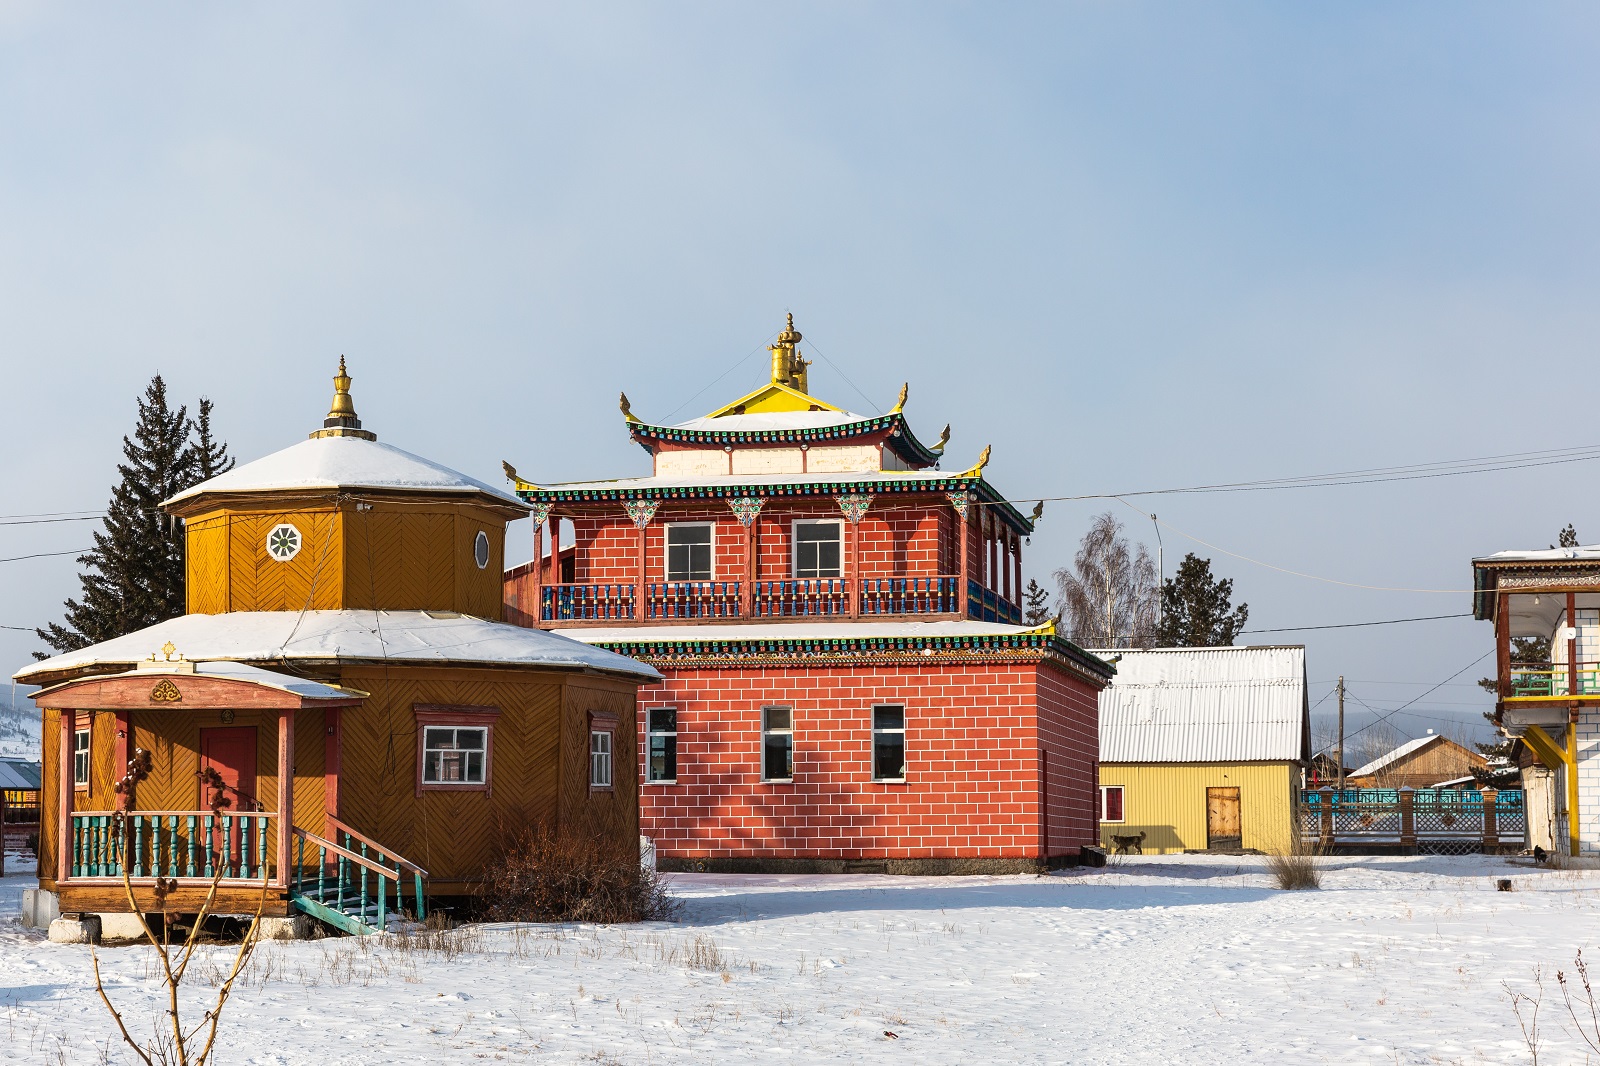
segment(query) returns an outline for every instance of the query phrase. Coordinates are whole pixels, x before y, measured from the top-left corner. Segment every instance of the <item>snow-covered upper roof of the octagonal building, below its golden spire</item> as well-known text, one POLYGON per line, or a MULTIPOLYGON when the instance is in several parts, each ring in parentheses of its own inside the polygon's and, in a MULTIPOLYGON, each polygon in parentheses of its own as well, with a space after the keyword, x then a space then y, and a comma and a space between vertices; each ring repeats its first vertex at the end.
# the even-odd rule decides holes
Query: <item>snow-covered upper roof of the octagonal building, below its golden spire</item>
POLYGON ((312 437, 274 451, 254 463, 237 466, 194 488, 186 488, 163 506, 202 493, 262 493, 296 488, 378 488, 429 493, 485 493, 522 511, 528 506, 506 490, 485 485, 430 459, 394 445, 362 437, 312 437))

